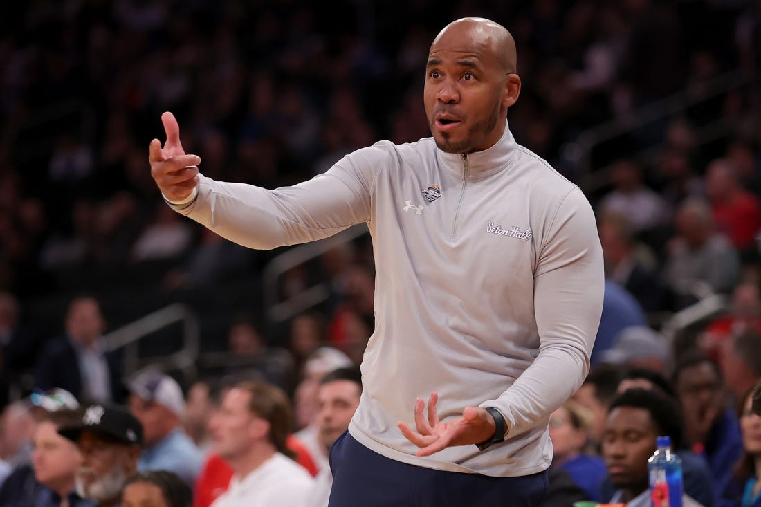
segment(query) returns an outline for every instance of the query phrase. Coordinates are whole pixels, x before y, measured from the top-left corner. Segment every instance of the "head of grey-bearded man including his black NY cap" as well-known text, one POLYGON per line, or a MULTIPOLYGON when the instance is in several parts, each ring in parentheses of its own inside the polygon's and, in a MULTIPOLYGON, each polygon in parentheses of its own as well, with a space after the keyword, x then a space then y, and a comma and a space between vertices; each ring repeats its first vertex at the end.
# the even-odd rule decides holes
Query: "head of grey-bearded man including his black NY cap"
POLYGON ((90 405, 81 419, 58 432, 76 442, 82 455, 77 470, 77 493, 98 507, 119 504, 126 480, 137 471, 142 426, 118 406, 90 405))

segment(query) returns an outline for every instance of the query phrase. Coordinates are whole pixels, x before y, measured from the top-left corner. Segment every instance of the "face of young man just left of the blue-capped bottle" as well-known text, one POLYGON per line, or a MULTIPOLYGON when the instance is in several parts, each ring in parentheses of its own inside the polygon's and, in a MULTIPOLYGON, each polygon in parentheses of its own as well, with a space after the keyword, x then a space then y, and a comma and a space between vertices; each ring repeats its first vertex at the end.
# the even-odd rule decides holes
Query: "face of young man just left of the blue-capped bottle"
POLYGON ((603 432, 603 458, 613 486, 638 494, 648 488, 648 458, 655 451, 658 428, 648 410, 616 407, 603 432))

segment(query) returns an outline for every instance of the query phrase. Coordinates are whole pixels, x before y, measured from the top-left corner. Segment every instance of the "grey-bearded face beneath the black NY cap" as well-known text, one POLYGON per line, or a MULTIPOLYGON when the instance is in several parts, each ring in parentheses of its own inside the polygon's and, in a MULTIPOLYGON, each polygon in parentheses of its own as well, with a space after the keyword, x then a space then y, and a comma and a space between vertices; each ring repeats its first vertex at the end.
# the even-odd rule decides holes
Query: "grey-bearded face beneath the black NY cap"
POLYGON ((139 448, 108 442, 91 431, 82 432, 77 446, 82 454, 76 474, 77 493, 96 502, 118 498, 126 480, 135 473, 139 448))

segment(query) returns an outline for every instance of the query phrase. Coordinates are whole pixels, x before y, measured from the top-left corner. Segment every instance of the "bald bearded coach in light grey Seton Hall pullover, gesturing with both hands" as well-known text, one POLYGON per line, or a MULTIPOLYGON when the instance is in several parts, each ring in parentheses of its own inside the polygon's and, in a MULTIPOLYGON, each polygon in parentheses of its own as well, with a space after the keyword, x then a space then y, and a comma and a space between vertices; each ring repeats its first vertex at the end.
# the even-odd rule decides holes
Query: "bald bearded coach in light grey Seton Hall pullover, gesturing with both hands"
POLYGON ((600 320, 603 255, 581 190, 518 145, 515 43, 482 18, 448 24, 425 63, 432 137, 380 141, 294 187, 220 183, 174 116, 150 146, 177 212, 247 247, 366 223, 375 329, 331 507, 540 505, 549 416, 581 384, 600 320))

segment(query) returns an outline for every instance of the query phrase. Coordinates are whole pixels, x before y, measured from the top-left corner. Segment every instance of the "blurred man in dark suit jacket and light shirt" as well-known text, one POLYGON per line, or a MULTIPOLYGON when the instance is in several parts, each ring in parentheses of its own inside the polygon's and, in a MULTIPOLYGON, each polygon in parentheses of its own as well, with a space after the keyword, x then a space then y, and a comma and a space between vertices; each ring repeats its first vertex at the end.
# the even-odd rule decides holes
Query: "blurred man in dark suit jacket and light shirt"
POLYGON ((65 333, 46 344, 37 360, 34 385, 61 387, 84 402, 123 400, 119 356, 103 341, 106 321, 97 299, 79 296, 69 303, 65 333))

